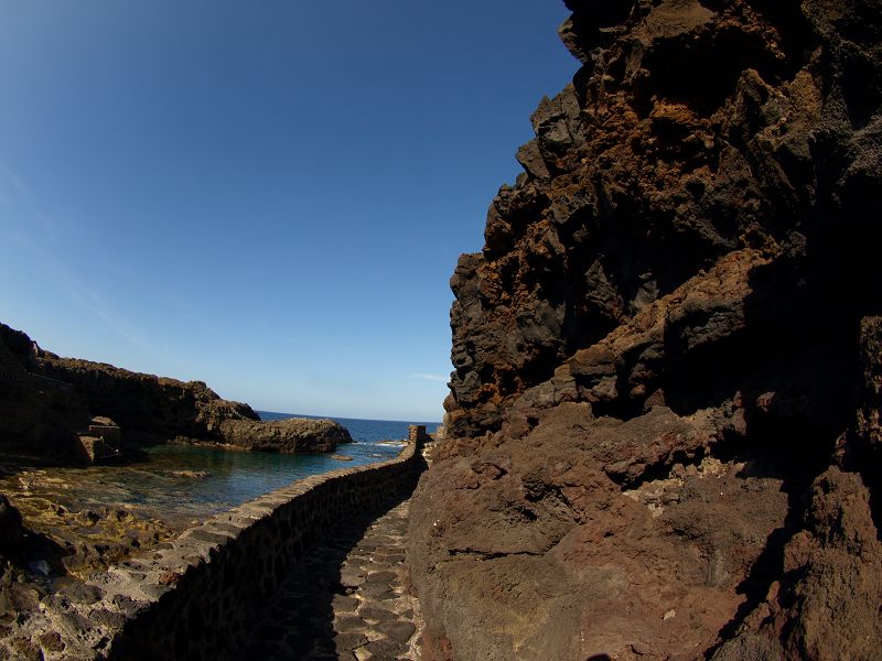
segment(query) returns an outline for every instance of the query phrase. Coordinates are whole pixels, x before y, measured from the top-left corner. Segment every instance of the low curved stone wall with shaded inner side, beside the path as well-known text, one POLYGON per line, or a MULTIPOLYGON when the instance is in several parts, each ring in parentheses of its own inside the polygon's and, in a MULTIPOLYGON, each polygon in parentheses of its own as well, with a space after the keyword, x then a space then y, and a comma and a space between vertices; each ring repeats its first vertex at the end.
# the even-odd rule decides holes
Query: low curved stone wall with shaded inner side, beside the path
POLYGON ((229 658, 311 543, 412 490, 421 445, 418 435, 396 459, 316 475, 217 514, 51 597, 49 621, 28 633, 50 661, 229 658))

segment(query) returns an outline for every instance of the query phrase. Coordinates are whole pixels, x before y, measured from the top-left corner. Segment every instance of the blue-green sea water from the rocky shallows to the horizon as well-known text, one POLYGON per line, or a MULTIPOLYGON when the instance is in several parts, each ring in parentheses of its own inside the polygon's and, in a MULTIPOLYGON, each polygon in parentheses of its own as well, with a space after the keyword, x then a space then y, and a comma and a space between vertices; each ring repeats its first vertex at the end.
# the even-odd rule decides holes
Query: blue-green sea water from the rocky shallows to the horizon
MULTIPOLYGON (((260 412, 263 420, 290 415, 260 412)), ((337 419, 356 443, 338 445, 336 455, 294 455, 229 451, 192 445, 155 445, 137 460, 88 468, 33 469, 14 479, 31 481, 31 492, 47 491, 71 509, 122 506, 150 518, 187 524, 283 487, 338 468, 398 456, 407 422, 337 419)), ((437 424, 428 424, 431 432, 437 424)), ((7 478, 12 479, 12 478, 7 478)), ((0 480, 2 488, 2 480, 0 480)))

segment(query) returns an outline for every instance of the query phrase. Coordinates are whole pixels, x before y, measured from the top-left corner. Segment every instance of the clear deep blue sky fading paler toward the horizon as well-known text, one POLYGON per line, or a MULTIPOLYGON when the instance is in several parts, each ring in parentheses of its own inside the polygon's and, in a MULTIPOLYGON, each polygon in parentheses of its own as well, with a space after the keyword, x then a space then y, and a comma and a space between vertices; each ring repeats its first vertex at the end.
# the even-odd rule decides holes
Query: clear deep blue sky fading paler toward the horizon
POLYGON ((0 0, 0 322, 255 409, 440 421, 449 279, 558 0, 0 0))

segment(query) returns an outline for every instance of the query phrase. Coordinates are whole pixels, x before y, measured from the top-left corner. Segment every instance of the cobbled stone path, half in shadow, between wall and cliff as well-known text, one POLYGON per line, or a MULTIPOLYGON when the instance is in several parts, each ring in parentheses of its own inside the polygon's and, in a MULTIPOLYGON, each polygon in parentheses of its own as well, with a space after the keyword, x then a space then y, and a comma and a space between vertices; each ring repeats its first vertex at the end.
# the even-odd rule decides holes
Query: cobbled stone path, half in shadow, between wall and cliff
POLYGON ((353 519, 313 549, 267 605, 241 659, 418 661, 419 603, 405 587, 409 506, 353 519))

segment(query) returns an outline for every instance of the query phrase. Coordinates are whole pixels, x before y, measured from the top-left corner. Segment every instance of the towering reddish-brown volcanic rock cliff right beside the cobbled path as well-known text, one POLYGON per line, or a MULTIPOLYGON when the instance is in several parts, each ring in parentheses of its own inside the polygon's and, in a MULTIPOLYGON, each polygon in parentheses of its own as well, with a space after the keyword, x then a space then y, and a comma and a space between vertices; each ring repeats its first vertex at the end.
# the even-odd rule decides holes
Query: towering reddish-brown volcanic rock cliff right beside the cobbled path
POLYGON ((567 6, 451 280, 426 653, 880 658, 882 2, 567 6))

